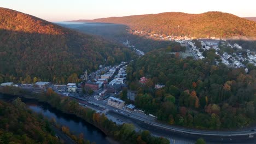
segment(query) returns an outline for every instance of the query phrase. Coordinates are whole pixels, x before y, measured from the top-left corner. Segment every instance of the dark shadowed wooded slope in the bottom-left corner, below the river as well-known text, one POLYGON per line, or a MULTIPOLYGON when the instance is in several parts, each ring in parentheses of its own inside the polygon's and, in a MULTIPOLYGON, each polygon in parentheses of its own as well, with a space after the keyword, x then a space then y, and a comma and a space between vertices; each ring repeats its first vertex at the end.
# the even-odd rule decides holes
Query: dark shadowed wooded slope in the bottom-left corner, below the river
POLYGON ((13 104, 0 100, 0 143, 61 143, 50 123, 27 110, 18 98, 13 104))

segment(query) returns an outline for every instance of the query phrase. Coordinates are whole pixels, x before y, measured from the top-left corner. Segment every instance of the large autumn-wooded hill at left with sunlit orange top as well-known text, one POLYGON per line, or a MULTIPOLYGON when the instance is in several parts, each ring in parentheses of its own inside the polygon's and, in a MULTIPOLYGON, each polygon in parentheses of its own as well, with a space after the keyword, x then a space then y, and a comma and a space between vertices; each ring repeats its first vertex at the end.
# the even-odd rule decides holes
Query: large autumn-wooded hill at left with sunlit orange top
POLYGON ((0 8, 0 15, 0 83, 77 82, 85 69, 131 58, 129 49, 93 35, 11 9, 0 8))

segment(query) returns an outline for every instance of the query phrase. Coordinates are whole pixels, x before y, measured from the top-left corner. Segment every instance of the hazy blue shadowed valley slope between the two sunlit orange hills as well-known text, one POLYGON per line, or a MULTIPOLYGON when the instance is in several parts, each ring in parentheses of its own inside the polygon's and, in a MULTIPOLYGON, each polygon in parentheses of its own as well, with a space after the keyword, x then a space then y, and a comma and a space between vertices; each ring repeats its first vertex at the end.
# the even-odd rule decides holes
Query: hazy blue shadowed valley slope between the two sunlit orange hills
POLYGON ((123 44, 126 40, 129 40, 130 45, 134 45, 136 49, 143 52, 166 48, 168 46, 173 46, 176 44, 173 41, 154 40, 141 37, 139 35, 130 34, 128 32, 128 26, 114 23, 84 23, 75 25, 64 25, 61 23, 57 23, 57 25, 66 28, 72 28, 76 31, 83 33, 100 35, 105 39, 112 40, 120 44, 123 44))

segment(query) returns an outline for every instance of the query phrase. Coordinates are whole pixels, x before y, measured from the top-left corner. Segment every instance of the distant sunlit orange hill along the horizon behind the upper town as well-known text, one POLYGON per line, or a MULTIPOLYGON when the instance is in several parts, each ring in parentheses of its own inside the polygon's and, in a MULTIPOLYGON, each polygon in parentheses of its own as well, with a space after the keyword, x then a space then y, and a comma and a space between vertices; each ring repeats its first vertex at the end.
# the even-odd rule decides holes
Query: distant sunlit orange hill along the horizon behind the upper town
POLYGON ((197 38, 256 37, 255 22, 218 11, 202 14, 171 12, 78 21, 119 23, 129 26, 133 31, 149 34, 187 35, 197 38))

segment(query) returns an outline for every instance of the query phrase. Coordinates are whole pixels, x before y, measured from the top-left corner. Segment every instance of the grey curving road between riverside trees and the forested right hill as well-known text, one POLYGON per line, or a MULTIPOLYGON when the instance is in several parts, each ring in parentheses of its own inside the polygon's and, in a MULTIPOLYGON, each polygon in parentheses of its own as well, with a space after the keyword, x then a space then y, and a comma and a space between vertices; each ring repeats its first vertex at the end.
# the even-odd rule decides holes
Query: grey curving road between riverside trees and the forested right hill
MULTIPOLYGON (((43 91, 42 89, 35 89, 35 88, 27 88, 27 90, 31 89, 33 92, 40 92, 43 91)), ((96 93, 95 93, 96 94, 96 93)), ((94 95, 95 95, 94 94, 94 95)), ((66 97, 66 96, 65 96, 66 97)), ((168 136, 167 133, 171 135, 183 135, 186 137, 204 137, 206 140, 218 140, 223 141, 225 139, 229 139, 229 141, 234 142, 236 139, 240 140, 247 140, 247 141, 254 141, 256 136, 256 131, 252 131, 256 129, 255 127, 251 129, 243 129, 243 130, 230 130, 230 131, 208 131, 208 130, 197 130, 197 129, 189 129, 189 128, 181 128, 172 125, 167 125, 163 123, 159 123, 154 121, 154 118, 147 116, 147 115, 136 115, 134 112, 129 112, 123 109, 117 109, 115 107, 107 105, 106 101, 103 100, 96 100, 93 98, 93 95, 90 97, 84 98, 75 98, 79 99, 80 101, 84 101, 85 103, 90 102, 95 105, 98 105, 98 110, 100 109, 108 109, 110 112, 118 113, 119 116, 125 116, 126 119, 133 119, 132 123, 136 125, 139 123, 141 125, 147 125, 147 127, 143 126, 144 129, 150 130, 150 132, 155 133, 157 130, 157 134, 160 136, 168 136), (101 108, 102 107, 102 108, 101 108), (129 116, 128 116, 129 115, 129 116), (134 120, 135 119, 135 120, 134 120), (142 124, 143 123, 143 124, 142 124), (153 129, 151 129, 153 128, 153 129), (249 135, 253 136, 249 138, 249 135)), ((169 135, 170 136, 170 135, 169 135)), ((255 141, 256 143, 256 141, 255 141)))

